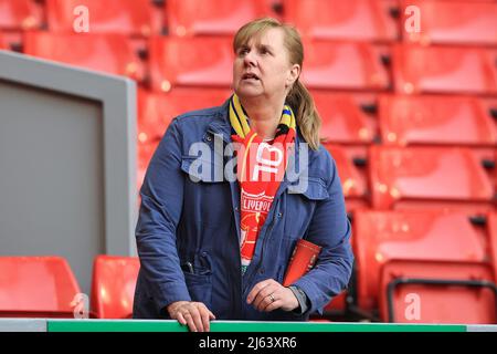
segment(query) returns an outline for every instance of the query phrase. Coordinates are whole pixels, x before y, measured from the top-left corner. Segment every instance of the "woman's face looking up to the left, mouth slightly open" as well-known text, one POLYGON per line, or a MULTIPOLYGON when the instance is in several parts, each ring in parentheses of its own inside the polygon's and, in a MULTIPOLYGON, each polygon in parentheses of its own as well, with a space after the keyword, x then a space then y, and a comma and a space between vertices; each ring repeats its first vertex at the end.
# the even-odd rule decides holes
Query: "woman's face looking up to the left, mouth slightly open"
POLYGON ((299 74, 299 65, 290 64, 284 45, 284 32, 269 29, 236 51, 233 63, 233 88, 240 97, 286 96, 299 74))

